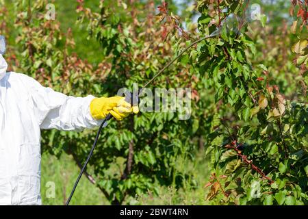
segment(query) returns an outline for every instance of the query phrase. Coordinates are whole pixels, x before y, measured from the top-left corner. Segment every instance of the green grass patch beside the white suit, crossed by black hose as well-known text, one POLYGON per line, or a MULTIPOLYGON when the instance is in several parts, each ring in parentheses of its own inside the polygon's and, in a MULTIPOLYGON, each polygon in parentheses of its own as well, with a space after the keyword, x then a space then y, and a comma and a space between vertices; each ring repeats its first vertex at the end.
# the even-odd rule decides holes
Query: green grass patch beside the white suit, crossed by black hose
MULTIPOLYGON (((42 155, 41 195, 43 205, 64 205, 78 177, 80 169, 69 155, 60 159, 42 155), (54 189, 54 192, 53 192, 54 189)), ((108 205, 99 188, 81 177, 70 205, 108 205)))

